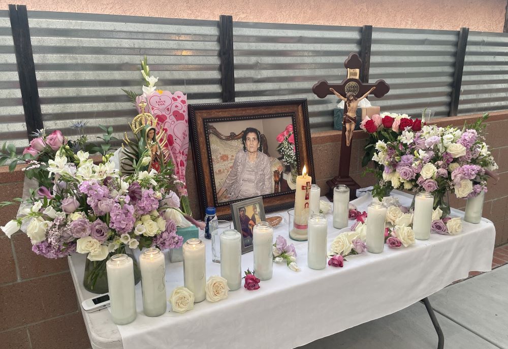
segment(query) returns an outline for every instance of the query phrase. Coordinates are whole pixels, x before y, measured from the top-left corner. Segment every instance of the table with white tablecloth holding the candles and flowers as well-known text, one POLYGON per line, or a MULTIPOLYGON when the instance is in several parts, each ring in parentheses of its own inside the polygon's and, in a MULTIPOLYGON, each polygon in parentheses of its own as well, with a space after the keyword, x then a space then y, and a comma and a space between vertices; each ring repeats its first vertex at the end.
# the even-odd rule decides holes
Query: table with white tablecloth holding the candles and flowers
MULTIPOLYGON (((392 191, 400 203, 409 206, 412 195, 392 191)), ((369 193, 352 201, 366 211, 369 193)), ((300 272, 285 263, 275 264, 273 278, 262 281, 258 290, 244 287, 217 303, 203 301, 184 314, 168 311, 158 317, 143 314, 141 284, 136 285, 138 316, 128 325, 113 324, 108 309, 86 313, 84 321, 93 348, 294 348, 348 328, 366 323, 416 303, 470 271, 490 271, 495 228, 491 221, 462 222, 456 236, 431 234, 407 248, 383 253, 364 252, 347 256, 343 268, 323 270, 307 267, 307 242, 290 241, 287 213, 285 224, 274 229, 296 247, 300 272)), ((341 231, 328 219, 328 246, 341 231)), ((463 212, 452 209, 452 217, 463 212)), ((350 225, 353 221, 350 221, 350 225)), ((206 274, 220 275, 220 265, 211 261, 211 242, 206 244, 206 274)), ((78 299, 93 296, 83 285, 85 255, 69 257, 78 299)), ((253 268, 252 252, 242 255, 242 270, 253 268)), ((182 263, 168 263, 168 297, 183 285, 182 263)), ((168 309, 171 307, 168 305, 168 309)), ((411 328, 407 328, 411 333, 411 328)), ((368 334, 365 334, 368 335, 368 334)))

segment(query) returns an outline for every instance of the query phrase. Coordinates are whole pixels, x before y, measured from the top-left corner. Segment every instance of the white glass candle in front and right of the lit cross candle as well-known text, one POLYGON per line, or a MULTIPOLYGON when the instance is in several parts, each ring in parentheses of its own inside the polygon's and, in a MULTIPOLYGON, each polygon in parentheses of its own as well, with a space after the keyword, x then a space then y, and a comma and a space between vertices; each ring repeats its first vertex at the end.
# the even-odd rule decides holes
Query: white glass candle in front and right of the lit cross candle
POLYGON ((328 242, 328 223, 324 215, 315 213, 309 218, 309 242, 307 265, 311 269, 326 267, 326 249, 328 242))

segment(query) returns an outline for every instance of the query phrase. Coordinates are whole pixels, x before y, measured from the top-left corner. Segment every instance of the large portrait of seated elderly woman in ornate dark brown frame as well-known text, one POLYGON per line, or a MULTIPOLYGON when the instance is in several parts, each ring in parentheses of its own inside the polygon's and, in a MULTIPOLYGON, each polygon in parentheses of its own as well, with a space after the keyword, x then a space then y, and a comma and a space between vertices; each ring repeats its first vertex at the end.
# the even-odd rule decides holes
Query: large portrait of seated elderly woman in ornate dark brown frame
POLYGON ((231 203, 257 196, 266 212, 294 206, 296 175, 304 165, 314 173, 306 99, 190 104, 188 110, 202 217, 215 207, 219 219, 230 219, 231 203))

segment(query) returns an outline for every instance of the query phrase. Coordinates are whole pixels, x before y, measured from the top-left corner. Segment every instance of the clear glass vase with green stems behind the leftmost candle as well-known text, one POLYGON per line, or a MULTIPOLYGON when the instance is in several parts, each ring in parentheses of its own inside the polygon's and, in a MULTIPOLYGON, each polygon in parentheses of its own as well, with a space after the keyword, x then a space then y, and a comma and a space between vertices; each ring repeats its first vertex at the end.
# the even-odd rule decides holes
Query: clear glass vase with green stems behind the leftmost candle
POLYGON ((110 252, 108 257, 103 260, 90 260, 86 258, 83 286, 88 292, 97 294, 108 292, 108 274, 106 273, 106 262, 115 254, 120 253, 126 254, 132 258, 134 265, 134 282, 135 284, 138 284, 138 282, 141 281, 141 271, 139 269, 138 259, 134 255, 132 249, 122 245, 113 252, 110 252))

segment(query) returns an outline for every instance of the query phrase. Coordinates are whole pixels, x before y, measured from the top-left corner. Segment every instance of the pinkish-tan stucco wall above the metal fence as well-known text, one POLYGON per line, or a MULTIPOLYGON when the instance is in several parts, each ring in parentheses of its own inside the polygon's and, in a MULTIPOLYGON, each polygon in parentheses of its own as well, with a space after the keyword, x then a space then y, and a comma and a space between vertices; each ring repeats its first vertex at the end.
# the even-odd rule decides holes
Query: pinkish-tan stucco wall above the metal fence
MULTIPOLYGON (((15 2, 0 1, 0 9, 15 2)), ((506 0, 21 0, 28 10, 502 32, 506 0), (350 12, 351 14, 346 14, 350 12)))

